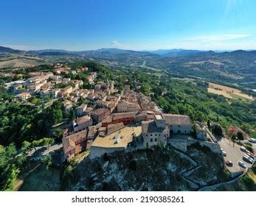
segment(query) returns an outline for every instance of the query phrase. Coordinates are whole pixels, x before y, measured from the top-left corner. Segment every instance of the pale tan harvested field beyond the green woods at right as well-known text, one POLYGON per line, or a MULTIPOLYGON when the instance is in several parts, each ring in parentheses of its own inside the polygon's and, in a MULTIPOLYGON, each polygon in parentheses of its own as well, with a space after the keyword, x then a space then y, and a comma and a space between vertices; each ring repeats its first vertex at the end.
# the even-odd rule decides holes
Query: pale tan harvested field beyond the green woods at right
POLYGON ((217 85, 209 82, 208 92, 222 95, 228 99, 242 99, 245 101, 254 100, 252 96, 242 93, 241 90, 229 88, 224 85, 217 85))

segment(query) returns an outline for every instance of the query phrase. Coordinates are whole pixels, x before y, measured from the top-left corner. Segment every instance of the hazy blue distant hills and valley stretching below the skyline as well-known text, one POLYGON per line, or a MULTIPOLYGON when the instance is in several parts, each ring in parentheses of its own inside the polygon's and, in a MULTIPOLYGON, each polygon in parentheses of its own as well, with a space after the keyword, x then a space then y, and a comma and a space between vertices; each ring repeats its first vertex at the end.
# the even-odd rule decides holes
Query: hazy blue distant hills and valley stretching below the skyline
POLYGON ((160 49, 133 51, 104 48, 91 51, 66 51, 43 49, 20 51, 0 46, 0 68, 17 68, 58 62, 60 60, 96 60, 112 68, 153 69, 168 72, 175 77, 199 77, 209 81, 246 83, 246 88, 256 86, 256 51, 201 51, 190 49, 160 49), (5 57, 2 54, 16 54, 5 57), (18 55, 21 54, 22 57, 18 55), (26 55, 24 55, 26 54, 26 55), (33 58, 30 58, 33 56, 33 58), (34 58, 38 57, 38 58, 34 58), (66 58, 65 58, 66 57, 66 58), (72 58, 70 58, 72 57, 72 58), (249 82, 249 83, 248 83, 249 82), (248 83, 248 84, 247 84, 248 83))

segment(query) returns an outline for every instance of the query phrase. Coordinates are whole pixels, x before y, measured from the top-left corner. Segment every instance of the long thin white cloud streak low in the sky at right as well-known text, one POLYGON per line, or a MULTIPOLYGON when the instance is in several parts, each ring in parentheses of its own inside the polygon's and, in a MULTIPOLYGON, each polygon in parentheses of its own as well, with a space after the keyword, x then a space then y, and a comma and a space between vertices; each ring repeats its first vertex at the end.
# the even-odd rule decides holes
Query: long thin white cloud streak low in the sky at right
POLYGON ((224 41, 224 40, 235 40, 240 38, 247 38, 250 35, 247 34, 238 34, 238 35, 206 35, 206 36, 198 36, 193 38, 186 38, 188 41, 201 41, 201 42, 216 42, 216 41, 224 41))

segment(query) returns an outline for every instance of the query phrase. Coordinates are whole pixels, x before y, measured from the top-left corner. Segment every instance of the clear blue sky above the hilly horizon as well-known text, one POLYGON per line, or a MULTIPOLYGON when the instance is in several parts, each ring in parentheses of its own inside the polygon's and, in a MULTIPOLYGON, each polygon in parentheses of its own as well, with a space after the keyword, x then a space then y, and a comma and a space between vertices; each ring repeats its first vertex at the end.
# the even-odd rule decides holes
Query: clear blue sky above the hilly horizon
POLYGON ((256 49, 255 0, 0 0, 15 49, 256 49))

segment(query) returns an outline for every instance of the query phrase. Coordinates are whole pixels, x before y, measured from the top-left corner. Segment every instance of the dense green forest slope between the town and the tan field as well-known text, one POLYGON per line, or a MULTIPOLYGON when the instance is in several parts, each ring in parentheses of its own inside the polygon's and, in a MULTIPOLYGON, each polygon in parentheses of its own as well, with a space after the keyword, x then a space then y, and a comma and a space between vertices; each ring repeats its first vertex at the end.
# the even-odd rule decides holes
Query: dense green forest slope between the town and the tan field
MULTIPOLYGON (((196 121, 218 121, 222 127, 235 124, 246 132, 256 129, 256 102, 227 100, 208 93, 208 83, 196 79, 173 78, 167 74, 134 71, 128 74, 133 88, 140 85, 165 113, 190 116, 196 121)), ((254 134, 255 135, 255 134, 254 134)))

